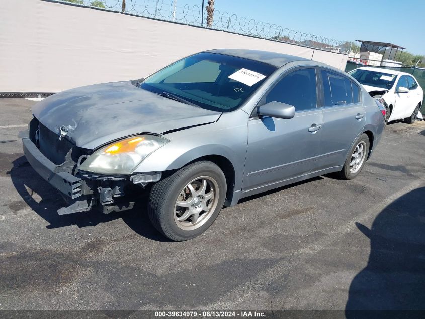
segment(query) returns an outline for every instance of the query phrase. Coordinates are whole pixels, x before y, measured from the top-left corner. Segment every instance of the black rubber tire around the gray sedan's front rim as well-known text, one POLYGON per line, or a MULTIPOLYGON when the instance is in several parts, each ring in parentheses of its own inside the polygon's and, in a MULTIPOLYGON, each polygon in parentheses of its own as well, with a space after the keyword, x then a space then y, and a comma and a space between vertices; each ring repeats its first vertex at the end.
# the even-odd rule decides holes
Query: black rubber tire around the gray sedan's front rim
POLYGON ((217 218, 226 199, 226 188, 226 177, 213 162, 199 161, 185 166, 152 186, 147 210, 149 219, 159 232, 171 240, 183 241, 195 238, 207 230, 217 218), (185 187, 200 177, 207 177, 216 182, 214 187, 218 189, 218 198, 215 196, 217 193, 214 193, 210 215, 202 225, 192 230, 182 229, 178 226, 179 221, 175 219, 176 201, 184 194, 184 190, 187 189, 185 187))

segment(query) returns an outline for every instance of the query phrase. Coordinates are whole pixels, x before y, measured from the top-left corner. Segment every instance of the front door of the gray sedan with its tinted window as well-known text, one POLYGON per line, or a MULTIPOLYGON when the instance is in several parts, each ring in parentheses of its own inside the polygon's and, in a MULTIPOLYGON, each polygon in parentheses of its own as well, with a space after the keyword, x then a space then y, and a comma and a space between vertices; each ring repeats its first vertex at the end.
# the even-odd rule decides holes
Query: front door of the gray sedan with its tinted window
POLYGON ((317 108, 316 69, 302 67, 284 75, 265 94, 272 101, 295 106, 291 119, 252 116, 242 191, 277 184, 310 173, 319 154, 322 111, 317 108))

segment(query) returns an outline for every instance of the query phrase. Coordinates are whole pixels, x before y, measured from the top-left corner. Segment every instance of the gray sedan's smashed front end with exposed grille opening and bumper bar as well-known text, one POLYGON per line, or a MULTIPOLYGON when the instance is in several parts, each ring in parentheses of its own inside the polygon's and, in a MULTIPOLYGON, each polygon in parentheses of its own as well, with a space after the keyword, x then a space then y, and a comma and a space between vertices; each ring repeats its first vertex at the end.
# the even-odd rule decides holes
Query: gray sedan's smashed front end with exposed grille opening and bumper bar
POLYGON ((59 215, 95 207, 105 214, 131 209, 140 191, 161 178, 160 172, 101 175, 82 171, 80 165, 92 151, 77 147, 62 131, 58 136, 34 117, 28 131, 20 133, 30 165, 68 204, 58 210, 59 215))

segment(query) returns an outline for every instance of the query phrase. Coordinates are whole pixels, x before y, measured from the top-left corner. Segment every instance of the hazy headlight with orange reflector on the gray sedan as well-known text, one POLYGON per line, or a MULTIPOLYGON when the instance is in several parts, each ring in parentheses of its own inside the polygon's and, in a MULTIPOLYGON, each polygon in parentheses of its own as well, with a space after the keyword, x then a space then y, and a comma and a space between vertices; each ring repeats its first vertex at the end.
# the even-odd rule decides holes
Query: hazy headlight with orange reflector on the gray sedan
POLYGON ((132 136, 97 150, 79 169, 100 174, 131 174, 149 154, 168 142, 155 135, 132 136))

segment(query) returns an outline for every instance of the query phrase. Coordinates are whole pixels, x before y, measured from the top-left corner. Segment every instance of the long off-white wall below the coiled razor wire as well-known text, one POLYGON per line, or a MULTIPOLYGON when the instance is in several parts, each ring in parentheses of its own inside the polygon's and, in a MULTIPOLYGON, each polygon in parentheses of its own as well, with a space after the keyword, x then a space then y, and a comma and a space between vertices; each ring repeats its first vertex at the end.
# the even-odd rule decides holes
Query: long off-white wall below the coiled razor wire
POLYGON ((0 92, 58 92, 136 79, 195 52, 249 48, 344 70, 347 55, 42 0, 0 5, 0 92))

